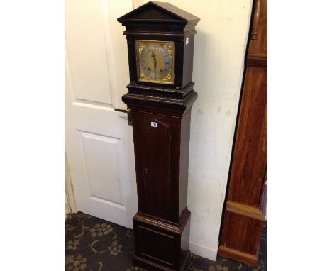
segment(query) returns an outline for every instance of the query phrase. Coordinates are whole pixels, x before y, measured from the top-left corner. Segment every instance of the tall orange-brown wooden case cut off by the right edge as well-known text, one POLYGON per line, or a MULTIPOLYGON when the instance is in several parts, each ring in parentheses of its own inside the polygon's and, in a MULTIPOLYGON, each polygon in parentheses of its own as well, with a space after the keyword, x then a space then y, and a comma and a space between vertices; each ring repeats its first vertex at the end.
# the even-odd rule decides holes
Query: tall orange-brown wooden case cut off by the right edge
POLYGON ((267 197, 267 0, 254 1, 218 254, 258 262, 267 197))

